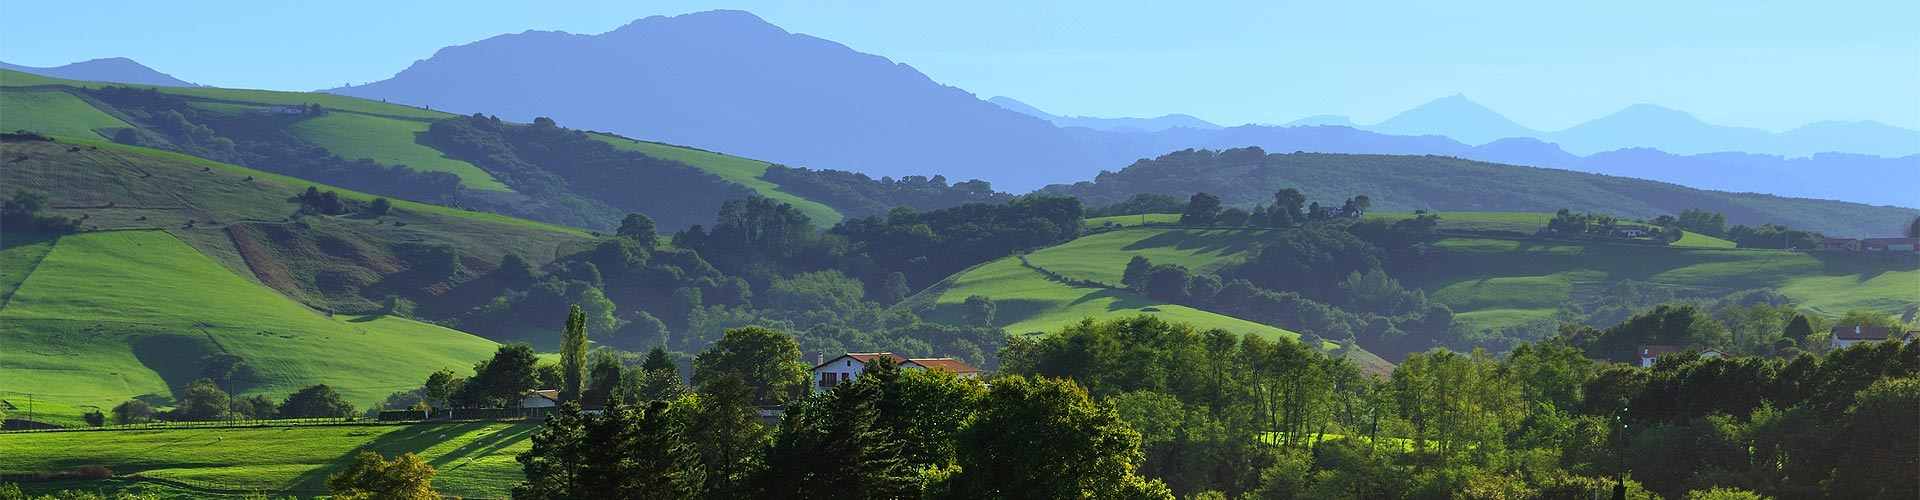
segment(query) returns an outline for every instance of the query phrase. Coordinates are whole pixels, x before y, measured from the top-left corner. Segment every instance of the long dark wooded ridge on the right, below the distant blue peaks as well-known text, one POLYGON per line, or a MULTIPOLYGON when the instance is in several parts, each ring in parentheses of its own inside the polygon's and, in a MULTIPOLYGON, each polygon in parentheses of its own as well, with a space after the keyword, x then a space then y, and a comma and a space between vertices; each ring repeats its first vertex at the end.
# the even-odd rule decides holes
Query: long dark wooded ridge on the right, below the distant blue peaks
POLYGON ((1442 156, 1267 154, 1260 148, 1183 150, 1102 173, 1094 181, 1043 192, 1079 196, 1089 206, 1154 192, 1212 192, 1229 206, 1271 204, 1281 188, 1309 200, 1373 198, 1386 212, 1576 212, 1655 217, 1688 208, 1726 213, 1728 223, 1780 223, 1832 237, 1899 235, 1920 210, 1834 200, 1699 190, 1655 181, 1517 167, 1442 156))

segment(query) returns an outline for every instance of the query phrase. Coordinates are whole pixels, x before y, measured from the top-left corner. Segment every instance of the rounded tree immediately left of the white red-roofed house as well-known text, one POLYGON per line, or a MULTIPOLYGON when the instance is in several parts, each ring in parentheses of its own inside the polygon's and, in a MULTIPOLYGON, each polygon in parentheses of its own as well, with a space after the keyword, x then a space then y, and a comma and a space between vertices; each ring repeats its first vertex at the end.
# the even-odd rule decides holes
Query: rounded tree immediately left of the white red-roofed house
POLYGON ((755 404, 780 404, 806 388, 801 346, 778 331, 762 327, 730 329, 693 358, 693 385, 735 377, 753 392, 755 404))

